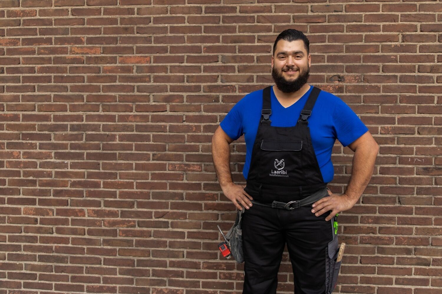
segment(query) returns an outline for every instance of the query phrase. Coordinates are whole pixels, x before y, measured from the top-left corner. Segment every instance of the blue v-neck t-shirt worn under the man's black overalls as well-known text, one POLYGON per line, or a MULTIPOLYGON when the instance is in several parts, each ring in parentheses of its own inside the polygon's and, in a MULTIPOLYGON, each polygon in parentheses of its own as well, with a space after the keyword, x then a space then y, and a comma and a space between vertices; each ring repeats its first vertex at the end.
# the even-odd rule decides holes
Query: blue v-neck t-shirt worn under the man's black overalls
MULTIPOLYGON (((313 86, 309 86, 309 91, 287 108, 279 103, 271 87, 271 126, 293 127, 296 125, 301 110, 313 89, 313 86)), ((247 179, 250 167, 251 152, 262 108, 263 89, 260 89, 247 94, 238 101, 220 123, 221 128, 233 140, 237 140, 243 134, 245 136, 246 160, 243 168, 245 179, 247 179)), ((368 128, 343 100, 325 91, 320 92, 308 121, 312 145, 322 177, 324 182, 331 182, 334 175, 331 151, 336 139, 345 147, 365 134, 368 128)))

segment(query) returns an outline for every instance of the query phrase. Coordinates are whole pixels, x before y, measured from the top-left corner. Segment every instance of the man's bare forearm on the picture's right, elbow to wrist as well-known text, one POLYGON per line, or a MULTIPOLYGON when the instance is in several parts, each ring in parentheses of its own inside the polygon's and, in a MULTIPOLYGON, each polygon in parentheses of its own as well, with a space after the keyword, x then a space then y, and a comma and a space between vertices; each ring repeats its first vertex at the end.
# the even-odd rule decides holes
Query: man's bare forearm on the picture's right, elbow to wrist
POLYGON ((351 177, 345 191, 354 203, 358 202, 370 182, 378 150, 377 145, 371 145, 361 146, 354 152, 351 177))

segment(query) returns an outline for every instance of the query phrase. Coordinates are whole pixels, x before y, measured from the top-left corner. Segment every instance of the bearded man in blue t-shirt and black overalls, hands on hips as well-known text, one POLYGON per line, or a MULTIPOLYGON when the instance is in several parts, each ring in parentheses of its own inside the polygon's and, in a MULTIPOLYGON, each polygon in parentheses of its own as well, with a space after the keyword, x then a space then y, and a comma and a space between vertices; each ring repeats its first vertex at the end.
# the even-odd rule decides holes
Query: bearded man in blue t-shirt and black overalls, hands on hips
POLYGON ((295 293, 331 293, 340 267, 332 220, 358 202, 373 173, 379 146, 347 104, 307 84, 310 64, 307 37, 292 29, 280 33, 271 58, 275 85, 242 98, 212 138, 221 189, 238 209, 246 208, 243 293, 276 293, 286 244, 295 293), (230 173, 229 144, 242 134, 246 186, 234 184, 230 173), (334 175, 336 139, 354 151, 343 194, 325 190, 334 175))

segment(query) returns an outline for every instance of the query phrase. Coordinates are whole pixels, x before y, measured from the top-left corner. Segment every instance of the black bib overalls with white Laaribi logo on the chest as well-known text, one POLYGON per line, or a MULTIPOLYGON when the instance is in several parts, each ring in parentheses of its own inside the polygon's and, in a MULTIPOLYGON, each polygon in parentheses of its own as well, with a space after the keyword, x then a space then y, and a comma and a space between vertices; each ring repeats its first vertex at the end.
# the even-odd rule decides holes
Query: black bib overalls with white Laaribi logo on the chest
MULTIPOLYGON (((274 200, 300 200, 327 186, 312 147, 307 120, 319 92, 319 88, 313 87, 294 127, 272 127, 271 86, 263 89, 262 115, 244 188, 254 201, 268 204, 274 200)), ((245 210, 244 294, 276 293, 286 244, 293 268, 294 293, 331 293, 328 252, 337 250, 338 240, 333 219, 325 221, 329 212, 315 216, 311 209, 311 205, 290 210, 253 205, 245 210)))

